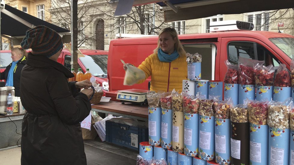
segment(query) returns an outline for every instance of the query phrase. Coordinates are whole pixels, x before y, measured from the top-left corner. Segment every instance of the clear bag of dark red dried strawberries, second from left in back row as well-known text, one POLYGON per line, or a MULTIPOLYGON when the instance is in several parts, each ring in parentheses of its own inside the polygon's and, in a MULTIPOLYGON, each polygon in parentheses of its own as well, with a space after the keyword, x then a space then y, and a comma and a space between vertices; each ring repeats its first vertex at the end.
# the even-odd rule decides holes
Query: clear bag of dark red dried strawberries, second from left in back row
POLYGON ((254 71, 253 67, 239 65, 239 84, 242 85, 254 85, 254 71))

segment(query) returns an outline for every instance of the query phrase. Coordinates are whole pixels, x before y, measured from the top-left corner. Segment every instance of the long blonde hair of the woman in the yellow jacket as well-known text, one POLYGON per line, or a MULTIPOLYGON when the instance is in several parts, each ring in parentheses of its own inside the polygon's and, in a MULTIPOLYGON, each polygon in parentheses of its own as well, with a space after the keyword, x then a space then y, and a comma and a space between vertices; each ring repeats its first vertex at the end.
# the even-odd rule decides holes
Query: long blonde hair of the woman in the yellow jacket
POLYGON ((186 55, 186 51, 184 50, 182 44, 179 41, 178 33, 177 33, 176 29, 170 28, 170 27, 162 29, 161 32, 159 33, 158 41, 157 41, 157 48, 154 49, 154 53, 157 53, 157 51, 160 47, 159 46, 159 36, 164 32, 167 32, 168 34, 170 34, 173 39, 176 38, 175 49, 177 49, 179 55, 186 55))

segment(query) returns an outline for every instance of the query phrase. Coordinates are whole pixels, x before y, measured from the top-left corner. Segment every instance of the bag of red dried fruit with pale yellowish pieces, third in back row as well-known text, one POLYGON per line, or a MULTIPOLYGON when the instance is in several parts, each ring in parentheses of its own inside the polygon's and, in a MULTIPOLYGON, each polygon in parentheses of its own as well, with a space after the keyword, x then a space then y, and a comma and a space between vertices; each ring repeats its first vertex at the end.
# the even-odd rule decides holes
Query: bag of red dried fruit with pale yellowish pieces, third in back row
POLYGON ((271 86, 274 82, 274 72, 270 73, 266 70, 254 70, 254 78, 256 85, 271 86))

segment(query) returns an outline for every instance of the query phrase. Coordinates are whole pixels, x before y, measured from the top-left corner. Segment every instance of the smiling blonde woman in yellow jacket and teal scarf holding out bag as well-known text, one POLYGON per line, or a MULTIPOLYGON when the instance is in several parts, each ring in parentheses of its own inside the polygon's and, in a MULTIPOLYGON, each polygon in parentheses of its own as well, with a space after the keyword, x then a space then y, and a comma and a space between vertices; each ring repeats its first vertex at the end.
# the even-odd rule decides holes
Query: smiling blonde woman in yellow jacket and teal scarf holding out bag
MULTIPOLYGON (((144 82, 151 76, 151 91, 182 91, 182 80, 187 79, 186 52, 173 28, 164 28, 158 35, 158 46, 139 69, 145 72, 144 82)), ((124 66, 126 70, 126 66, 124 66)))

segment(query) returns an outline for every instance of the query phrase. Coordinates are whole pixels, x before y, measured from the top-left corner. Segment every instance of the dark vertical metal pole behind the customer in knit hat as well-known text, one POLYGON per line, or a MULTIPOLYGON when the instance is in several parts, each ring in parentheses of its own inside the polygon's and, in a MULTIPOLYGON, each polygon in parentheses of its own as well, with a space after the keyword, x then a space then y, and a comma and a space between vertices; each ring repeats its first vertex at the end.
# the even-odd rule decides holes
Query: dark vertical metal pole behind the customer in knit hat
POLYGON ((78 71, 78 0, 71 0, 71 67, 78 71))

